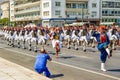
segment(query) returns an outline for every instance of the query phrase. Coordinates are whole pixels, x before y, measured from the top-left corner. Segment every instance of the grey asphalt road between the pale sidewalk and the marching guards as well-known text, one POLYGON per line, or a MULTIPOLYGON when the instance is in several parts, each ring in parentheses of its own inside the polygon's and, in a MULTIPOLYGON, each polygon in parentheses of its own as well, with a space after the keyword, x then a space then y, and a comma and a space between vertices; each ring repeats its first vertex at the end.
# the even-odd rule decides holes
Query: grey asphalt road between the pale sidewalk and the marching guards
MULTIPOLYGON (((97 49, 87 48, 76 51, 63 48, 59 59, 55 58, 55 51, 51 46, 45 46, 53 58, 48 62, 48 68, 53 80, 120 80, 120 50, 114 51, 113 57, 106 63, 107 72, 100 71, 99 52, 97 49)), ((38 53, 7 46, 0 40, 0 57, 33 70, 35 56, 38 53)))

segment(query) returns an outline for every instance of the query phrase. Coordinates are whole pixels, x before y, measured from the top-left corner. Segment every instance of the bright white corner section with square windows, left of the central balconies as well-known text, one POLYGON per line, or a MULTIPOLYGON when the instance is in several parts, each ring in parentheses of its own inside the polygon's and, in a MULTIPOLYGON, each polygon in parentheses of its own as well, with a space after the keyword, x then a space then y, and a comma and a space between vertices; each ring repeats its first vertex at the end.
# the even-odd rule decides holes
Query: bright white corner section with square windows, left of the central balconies
POLYGON ((65 0, 41 0, 43 26, 62 26, 65 16, 65 0))

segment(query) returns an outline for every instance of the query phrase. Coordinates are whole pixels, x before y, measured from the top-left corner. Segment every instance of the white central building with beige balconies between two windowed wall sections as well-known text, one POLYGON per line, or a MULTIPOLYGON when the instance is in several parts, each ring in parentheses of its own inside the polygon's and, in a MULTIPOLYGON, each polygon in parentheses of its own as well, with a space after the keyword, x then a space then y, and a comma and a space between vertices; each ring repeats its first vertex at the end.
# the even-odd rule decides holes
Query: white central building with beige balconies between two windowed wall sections
POLYGON ((96 0, 42 0, 42 12, 44 26, 100 22, 99 3, 96 0))

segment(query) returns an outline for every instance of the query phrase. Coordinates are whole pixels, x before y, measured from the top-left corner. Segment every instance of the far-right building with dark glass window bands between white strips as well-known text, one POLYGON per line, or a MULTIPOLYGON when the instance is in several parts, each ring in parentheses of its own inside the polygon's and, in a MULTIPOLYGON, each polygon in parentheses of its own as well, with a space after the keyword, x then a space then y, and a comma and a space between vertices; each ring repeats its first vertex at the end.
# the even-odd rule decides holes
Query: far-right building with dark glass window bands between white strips
POLYGON ((120 0, 101 0, 100 19, 103 24, 120 24, 120 0))

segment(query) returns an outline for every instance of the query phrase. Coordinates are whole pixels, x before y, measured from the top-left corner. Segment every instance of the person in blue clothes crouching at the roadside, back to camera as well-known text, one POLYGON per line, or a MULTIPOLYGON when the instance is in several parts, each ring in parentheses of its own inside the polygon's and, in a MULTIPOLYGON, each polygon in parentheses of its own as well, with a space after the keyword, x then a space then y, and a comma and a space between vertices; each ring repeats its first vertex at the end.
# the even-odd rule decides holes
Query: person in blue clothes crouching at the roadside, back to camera
POLYGON ((44 48, 41 48, 40 54, 36 57, 36 62, 34 65, 34 69, 39 74, 44 73, 46 77, 50 77, 51 73, 47 68, 47 60, 51 61, 52 58, 48 55, 44 48))

